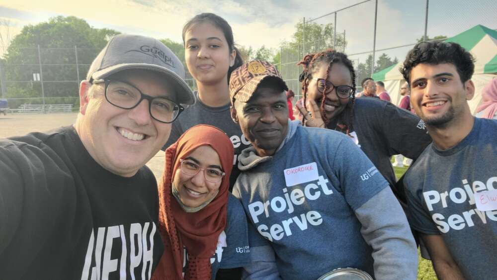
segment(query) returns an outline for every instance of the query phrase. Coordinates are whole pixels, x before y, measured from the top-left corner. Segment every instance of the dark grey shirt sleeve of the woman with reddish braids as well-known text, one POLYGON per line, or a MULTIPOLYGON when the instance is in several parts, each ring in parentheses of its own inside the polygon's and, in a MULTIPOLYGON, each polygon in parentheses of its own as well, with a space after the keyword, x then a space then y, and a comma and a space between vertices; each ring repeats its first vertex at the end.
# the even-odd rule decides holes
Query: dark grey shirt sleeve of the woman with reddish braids
POLYGON ((431 143, 424 122, 413 113, 393 104, 385 106, 381 122, 390 155, 401 154, 415 160, 431 143))

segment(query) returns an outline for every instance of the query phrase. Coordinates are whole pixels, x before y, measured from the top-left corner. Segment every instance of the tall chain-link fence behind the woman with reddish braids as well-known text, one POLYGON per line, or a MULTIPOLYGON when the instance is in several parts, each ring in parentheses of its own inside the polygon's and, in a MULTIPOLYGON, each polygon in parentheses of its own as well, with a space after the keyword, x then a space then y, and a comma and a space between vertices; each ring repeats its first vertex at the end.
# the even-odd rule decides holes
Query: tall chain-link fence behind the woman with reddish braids
POLYGON ((496 29, 496 14, 494 0, 358 1, 315 18, 305 15, 279 49, 279 69, 296 101, 302 97, 302 67, 296 64, 308 53, 336 49, 352 61, 361 91, 362 79, 402 62, 417 42, 452 37, 478 24, 496 29))

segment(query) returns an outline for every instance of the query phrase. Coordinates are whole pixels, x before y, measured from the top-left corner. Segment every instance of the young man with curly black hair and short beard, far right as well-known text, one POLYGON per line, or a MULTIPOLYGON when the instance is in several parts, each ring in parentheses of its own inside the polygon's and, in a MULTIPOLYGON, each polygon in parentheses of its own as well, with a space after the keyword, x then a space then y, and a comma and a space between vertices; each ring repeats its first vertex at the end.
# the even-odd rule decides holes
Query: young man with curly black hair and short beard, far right
POLYGON ((433 138, 404 183, 411 225, 438 279, 497 275, 497 121, 471 115, 474 69, 468 51, 444 42, 416 44, 402 69, 411 106, 433 138))

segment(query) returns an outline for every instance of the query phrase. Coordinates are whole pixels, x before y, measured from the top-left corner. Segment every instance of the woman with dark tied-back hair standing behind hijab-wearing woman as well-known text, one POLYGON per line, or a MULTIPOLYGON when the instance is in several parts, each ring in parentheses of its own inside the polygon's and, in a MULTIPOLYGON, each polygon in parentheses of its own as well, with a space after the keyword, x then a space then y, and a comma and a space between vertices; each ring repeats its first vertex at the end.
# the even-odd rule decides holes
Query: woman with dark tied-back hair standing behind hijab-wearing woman
POLYGON ((231 26, 213 13, 201 13, 183 27, 186 66, 195 79, 198 91, 196 103, 181 114, 172 125, 171 135, 163 150, 187 129, 197 124, 209 124, 223 130, 235 147, 235 165, 230 177, 230 190, 239 171, 238 155, 250 144, 240 126, 231 120, 228 82, 231 72, 243 64, 235 47, 231 26))

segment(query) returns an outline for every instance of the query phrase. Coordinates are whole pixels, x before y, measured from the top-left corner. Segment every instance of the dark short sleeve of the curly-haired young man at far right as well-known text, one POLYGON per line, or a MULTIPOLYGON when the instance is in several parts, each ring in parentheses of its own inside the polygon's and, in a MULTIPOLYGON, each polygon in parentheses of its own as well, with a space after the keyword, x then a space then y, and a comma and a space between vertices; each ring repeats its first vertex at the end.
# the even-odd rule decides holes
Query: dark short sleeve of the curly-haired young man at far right
MULTIPOLYGON (((406 178, 407 179, 407 178, 406 178)), ((409 186, 406 183, 406 197, 408 205, 408 220, 409 224, 415 230, 424 234, 440 234, 438 229, 430 218, 428 212, 423 207, 423 203, 420 197, 416 197, 412 193, 413 186, 409 186)))

